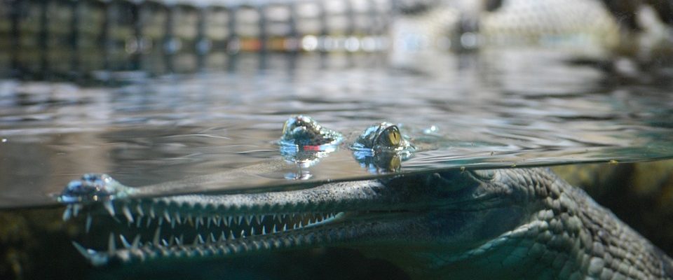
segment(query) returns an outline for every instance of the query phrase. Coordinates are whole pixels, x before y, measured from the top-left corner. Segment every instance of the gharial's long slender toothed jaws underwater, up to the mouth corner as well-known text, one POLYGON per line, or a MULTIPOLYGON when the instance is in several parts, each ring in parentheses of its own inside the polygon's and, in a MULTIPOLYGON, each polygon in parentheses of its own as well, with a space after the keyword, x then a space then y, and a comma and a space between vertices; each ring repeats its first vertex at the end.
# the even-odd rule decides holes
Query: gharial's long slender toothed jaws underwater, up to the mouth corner
POLYGON ((388 211, 376 193, 382 187, 360 181, 276 193, 108 200, 69 204, 64 219, 86 216, 86 238, 74 246, 94 265, 231 255, 375 235, 374 224, 381 223, 367 217, 382 213, 367 213, 361 202, 388 211))

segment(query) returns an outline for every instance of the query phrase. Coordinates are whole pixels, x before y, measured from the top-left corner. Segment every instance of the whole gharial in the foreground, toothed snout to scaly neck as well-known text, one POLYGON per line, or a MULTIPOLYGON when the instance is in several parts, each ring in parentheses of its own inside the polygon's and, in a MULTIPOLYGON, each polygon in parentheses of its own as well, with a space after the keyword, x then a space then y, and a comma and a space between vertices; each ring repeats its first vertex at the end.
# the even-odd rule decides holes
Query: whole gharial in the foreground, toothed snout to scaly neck
MULTIPOLYGON (((372 137, 392 146, 383 152, 400 139, 372 137)), ((138 190, 88 174, 60 196, 64 218, 86 213, 87 230, 117 221, 95 248, 74 242, 94 265, 344 246, 417 278, 673 278, 669 256, 548 169, 451 169, 264 193, 138 190)))

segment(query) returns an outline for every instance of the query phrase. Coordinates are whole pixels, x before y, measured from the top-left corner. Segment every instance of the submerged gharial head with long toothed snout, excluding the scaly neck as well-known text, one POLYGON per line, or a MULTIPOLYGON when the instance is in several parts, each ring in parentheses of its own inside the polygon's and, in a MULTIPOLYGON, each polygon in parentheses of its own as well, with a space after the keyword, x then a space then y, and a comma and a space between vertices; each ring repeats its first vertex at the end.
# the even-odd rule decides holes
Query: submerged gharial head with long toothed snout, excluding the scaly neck
POLYGON ((94 265, 348 246, 404 267, 428 255, 467 258, 515 228, 526 213, 519 189, 499 172, 454 170, 267 193, 77 202, 67 211, 86 216, 87 238, 75 246, 94 265))

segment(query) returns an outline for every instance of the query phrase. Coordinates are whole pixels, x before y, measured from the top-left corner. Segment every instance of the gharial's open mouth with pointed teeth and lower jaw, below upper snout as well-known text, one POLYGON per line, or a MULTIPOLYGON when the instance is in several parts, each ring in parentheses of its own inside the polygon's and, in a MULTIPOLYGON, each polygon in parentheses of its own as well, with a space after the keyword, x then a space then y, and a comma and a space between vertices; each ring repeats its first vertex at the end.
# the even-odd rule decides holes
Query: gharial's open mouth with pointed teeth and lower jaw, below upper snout
MULTIPOLYGON (((137 262, 163 258, 194 258, 268 251, 310 244, 329 244, 346 237, 348 225, 325 230, 325 225, 343 220, 344 212, 220 215, 198 213, 183 207, 144 206, 139 201, 121 203, 121 215, 107 234, 107 248, 90 249, 74 243, 93 263, 137 262), (132 210, 134 209, 135 210, 132 210), (141 216, 140 211, 147 212, 141 216), (161 214, 159 214, 161 213, 161 214), (124 225, 125 224, 125 225, 124 225)), ((149 205, 149 204, 148 204, 149 205)), ((109 218, 95 218, 109 223, 109 218)), ((94 218, 88 218, 88 221, 94 218)), ((93 230, 97 230, 97 222, 93 230)), ((103 230, 103 232, 106 230, 103 230)), ((104 236, 104 233, 103 233, 104 236)))

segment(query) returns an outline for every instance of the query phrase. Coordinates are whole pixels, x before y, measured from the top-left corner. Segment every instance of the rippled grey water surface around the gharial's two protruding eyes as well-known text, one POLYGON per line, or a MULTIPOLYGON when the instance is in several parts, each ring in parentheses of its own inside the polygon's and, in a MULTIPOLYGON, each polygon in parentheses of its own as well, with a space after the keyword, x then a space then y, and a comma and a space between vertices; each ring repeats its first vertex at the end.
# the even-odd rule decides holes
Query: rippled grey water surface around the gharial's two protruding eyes
MULTIPOLYGON (((383 55, 239 55, 197 73, 99 73, 104 83, 0 80, 0 207, 53 204, 87 172, 128 186, 280 161, 288 117, 353 139, 397 123, 418 148, 400 172, 673 157, 673 89, 573 55, 491 50, 391 64, 383 55), (232 59, 235 58, 235 59, 232 59), (109 78, 112 77, 112 78, 109 78)), ((376 176, 347 146, 208 188, 376 176)), ((204 187, 205 188, 205 187, 204 187)))

